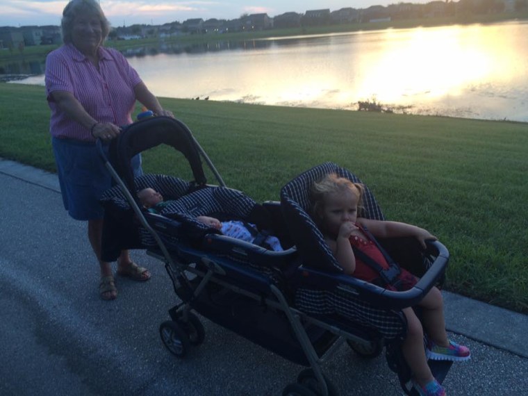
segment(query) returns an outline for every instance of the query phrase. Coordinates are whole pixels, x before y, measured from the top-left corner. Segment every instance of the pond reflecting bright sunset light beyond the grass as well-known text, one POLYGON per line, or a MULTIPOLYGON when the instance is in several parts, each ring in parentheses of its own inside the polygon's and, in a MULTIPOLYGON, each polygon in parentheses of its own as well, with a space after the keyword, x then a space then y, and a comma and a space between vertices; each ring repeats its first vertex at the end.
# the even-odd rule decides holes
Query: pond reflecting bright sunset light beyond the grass
POLYGON ((363 101, 396 113, 528 122, 527 49, 528 24, 506 22, 161 44, 125 55, 160 97, 344 110, 363 101))

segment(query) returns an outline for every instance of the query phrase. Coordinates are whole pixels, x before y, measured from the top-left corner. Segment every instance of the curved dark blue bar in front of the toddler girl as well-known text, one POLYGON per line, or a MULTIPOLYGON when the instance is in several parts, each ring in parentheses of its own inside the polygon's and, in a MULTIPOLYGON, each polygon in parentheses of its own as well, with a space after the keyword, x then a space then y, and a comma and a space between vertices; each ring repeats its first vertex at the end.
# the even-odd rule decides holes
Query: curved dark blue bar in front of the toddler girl
POLYGON ((406 308, 417 304, 427 295, 427 292, 442 279, 449 263, 449 251, 437 240, 427 241, 426 253, 436 256, 434 263, 413 288, 402 292, 387 290, 347 274, 329 273, 309 267, 299 267, 299 286, 323 287, 325 290, 337 289, 340 292, 350 293, 365 299, 369 304, 381 308, 406 308))

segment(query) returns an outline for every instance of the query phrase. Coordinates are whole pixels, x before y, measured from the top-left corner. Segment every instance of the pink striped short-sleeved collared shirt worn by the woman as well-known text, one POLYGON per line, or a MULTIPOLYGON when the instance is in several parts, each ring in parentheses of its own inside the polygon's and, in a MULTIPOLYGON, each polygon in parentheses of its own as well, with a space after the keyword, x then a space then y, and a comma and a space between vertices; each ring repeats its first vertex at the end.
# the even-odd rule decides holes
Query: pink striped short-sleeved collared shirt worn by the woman
POLYGON ((45 82, 47 101, 51 108, 51 135, 93 142, 95 139, 88 129, 58 108, 51 92, 72 92, 94 119, 122 126, 132 122, 134 87, 141 79, 122 53, 115 49, 99 48, 97 71, 73 44, 65 44, 48 54, 45 82))

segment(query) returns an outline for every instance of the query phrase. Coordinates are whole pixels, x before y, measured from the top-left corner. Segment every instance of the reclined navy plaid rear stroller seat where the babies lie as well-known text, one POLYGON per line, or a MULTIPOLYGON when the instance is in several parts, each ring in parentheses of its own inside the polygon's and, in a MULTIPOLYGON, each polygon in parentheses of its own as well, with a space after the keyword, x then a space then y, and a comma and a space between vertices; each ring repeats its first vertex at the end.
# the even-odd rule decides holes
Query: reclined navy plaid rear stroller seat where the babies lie
MULTIPOLYGON (((203 215, 217 217, 220 221, 241 220, 255 224, 258 230, 274 235, 270 211, 273 211, 275 206, 278 208, 277 203, 258 204, 243 192, 224 186, 205 185, 195 189, 191 183, 160 174, 139 176, 134 179, 134 183, 138 191, 154 188, 163 195, 165 201, 170 201, 160 213, 143 210, 145 219, 158 232, 168 249, 181 249, 182 244, 188 244, 204 253, 210 252, 216 256, 231 258, 267 274, 270 274, 272 267, 291 265, 292 256, 296 253, 294 247, 272 251, 261 245, 223 236, 217 229, 197 220, 197 216, 203 215)), ((106 209, 108 221, 105 224, 108 224, 108 233, 126 238, 129 248, 148 249, 157 246, 149 230, 139 222, 131 224, 133 211, 119 186, 107 190, 101 198, 101 204, 106 209), (124 222, 124 219, 128 221, 124 222), (131 246, 132 240, 135 240, 135 246, 131 246)), ((280 235, 280 232, 277 234, 280 235)), ((108 239, 110 238, 104 238, 106 257, 115 259, 122 244, 116 243, 115 249, 110 251, 112 246, 108 245, 108 239)), ((287 247, 287 244, 287 240, 283 242, 284 247, 287 247)))

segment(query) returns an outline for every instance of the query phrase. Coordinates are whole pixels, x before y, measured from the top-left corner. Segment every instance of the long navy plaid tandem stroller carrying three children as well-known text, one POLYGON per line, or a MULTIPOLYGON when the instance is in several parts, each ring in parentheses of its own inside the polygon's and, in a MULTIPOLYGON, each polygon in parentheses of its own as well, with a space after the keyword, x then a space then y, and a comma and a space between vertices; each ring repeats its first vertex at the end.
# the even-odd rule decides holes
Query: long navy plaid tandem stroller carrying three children
MULTIPOLYGON (((399 346, 406 335, 402 308, 414 306, 443 281, 449 254, 438 241, 423 251, 409 238, 381 240, 395 261, 420 277, 411 289, 395 292, 343 274, 309 215, 308 189, 334 172, 361 182, 334 163, 323 163, 292 179, 281 201, 257 203, 229 188, 190 130, 177 119, 151 117, 126 126, 101 157, 115 186, 101 197, 105 208, 102 258, 115 261, 122 249, 145 249, 165 264, 179 297, 160 324, 160 338, 179 358, 205 338, 199 315, 253 343, 306 367, 283 395, 338 395, 321 363, 346 343, 365 358, 386 351, 402 390, 415 395, 411 372, 399 346), (160 145, 190 165, 192 180, 165 174, 134 177, 136 154, 160 145), (216 184, 208 184, 203 163, 216 184), (154 188, 170 200, 160 213, 142 207, 137 192, 154 188), (283 251, 222 235, 197 221, 199 215, 255 224, 281 241, 283 251), (199 315, 197 315, 198 313, 199 315)), ((383 220, 365 188, 363 217, 383 220)), ((262 238, 257 238, 262 239, 262 238)), ((430 361, 438 381, 450 362, 430 361)))

